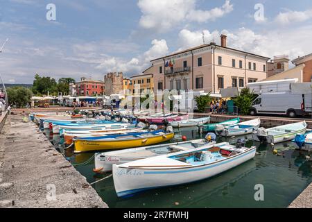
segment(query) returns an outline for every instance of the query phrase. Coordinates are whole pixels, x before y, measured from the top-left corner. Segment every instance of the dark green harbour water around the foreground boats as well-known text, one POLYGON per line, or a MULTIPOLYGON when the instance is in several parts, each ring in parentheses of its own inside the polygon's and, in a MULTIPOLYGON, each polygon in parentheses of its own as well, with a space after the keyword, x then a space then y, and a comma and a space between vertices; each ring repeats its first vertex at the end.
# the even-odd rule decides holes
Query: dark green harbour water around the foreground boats
MULTIPOLYGON (((180 141, 182 135, 188 139, 205 136, 198 133, 197 128, 189 128, 176 133, 175 141, 180 141)), ((218 138, 218 142, 234 143, 238 138, 218 138)), ((58 146, 60 137, 50 139, 58 146)), ((296 151, 295 144, 287 142, 275 145, 275 149, 284 153, 284 157, 277 156, 272 154, 271 145, 252 142, 250 135, 245 139, 250 139, 246 146, 257 146, 259 154, 254 160, 214 178, 189 185, 152 189, 132 198, 118 198, 112 178, 93 186, 109 207, 287 207, 312 182, 312 162, 306 161, 308 153, 296 151), (264 187, 264 201, 254 200, 254 186, 257 184, 264 187)), ((94 153, 73 155, 67 150, 64 155, 89 182, 110 175, 93 173, 94 153), (89 159, 91 161, 85 163, 89 159)))

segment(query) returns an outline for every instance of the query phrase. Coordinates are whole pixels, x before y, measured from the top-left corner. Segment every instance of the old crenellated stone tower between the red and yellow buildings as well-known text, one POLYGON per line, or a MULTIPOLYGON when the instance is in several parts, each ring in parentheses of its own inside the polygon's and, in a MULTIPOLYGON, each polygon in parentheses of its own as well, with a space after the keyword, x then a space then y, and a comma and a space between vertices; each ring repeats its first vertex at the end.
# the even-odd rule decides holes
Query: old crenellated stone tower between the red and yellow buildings
POLYGON ((105 95, 120 94, 123 91, 123 73, 112 72, 104 76, 105 95))

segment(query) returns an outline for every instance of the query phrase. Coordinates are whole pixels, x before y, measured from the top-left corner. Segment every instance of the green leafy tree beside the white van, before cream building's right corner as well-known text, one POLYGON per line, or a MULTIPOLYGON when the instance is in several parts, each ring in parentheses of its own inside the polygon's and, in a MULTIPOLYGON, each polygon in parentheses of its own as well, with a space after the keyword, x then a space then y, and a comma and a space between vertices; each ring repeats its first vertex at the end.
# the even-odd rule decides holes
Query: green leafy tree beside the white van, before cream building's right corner
POLYGON ((249 114, 252 107, 252 101, 256 96, 250 92, 249 88, 241 89, 239 96, 233 99, 235 105, 239 108, 241 114, 249 114))

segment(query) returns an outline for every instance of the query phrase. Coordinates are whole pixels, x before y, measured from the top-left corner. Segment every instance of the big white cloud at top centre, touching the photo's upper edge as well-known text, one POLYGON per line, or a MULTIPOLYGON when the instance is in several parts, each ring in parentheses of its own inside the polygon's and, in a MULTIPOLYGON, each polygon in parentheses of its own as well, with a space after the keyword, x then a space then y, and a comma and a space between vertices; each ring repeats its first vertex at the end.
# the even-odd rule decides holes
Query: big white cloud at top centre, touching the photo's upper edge
POLYGON ((139 25, 159 32, 168 31, 182 22, 208 22, 231 12, 233 5, 226 0, 220 8, 196 9, 197 0, 139 0, 141 15, 139 25))

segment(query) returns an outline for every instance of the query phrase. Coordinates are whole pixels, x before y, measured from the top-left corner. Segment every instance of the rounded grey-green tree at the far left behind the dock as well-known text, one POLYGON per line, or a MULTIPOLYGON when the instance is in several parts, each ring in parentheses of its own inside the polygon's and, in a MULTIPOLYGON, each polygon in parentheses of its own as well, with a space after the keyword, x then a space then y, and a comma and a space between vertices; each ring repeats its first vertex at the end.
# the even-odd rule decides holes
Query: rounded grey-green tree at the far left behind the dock
POLYGON ((24 107, 27 103, 31 102, 33 92, 26 87, 10 87, 7 90, 8 103, 17 105, 17 108, 24 107))

